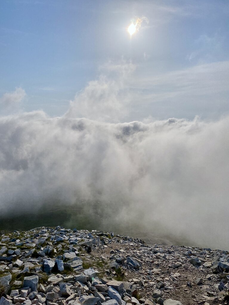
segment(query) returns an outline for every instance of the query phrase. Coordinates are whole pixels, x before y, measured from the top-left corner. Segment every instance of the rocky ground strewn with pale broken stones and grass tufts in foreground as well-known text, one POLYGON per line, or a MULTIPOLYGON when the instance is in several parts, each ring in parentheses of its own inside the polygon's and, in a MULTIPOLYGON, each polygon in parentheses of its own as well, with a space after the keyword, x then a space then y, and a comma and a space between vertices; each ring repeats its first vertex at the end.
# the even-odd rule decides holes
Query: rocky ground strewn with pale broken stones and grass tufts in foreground
POLYGON ((228 304, 227 251, 62 227, 0 241, 0 305, 228 304))

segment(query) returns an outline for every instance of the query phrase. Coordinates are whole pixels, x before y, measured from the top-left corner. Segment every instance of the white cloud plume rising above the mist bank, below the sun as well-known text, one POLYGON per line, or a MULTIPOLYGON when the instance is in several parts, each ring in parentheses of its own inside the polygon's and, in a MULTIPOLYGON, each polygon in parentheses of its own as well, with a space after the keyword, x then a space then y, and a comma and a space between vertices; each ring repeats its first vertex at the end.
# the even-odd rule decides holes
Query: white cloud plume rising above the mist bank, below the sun
POLYGON ((132 63, 126 62, 109 62, 101 66, 99 79, 90 81, 85 89, 75 96, 66 116, 108 122, 125 118, 132 98, 125 82, 134 69, 132 63))

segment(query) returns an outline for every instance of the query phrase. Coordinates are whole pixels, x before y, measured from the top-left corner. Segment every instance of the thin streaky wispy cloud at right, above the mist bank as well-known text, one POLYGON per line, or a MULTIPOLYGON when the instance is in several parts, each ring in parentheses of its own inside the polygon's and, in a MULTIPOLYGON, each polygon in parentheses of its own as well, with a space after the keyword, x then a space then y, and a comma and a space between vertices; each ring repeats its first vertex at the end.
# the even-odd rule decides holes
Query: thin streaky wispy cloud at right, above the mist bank
POLYGON ((180 102, 191 107, 193 101, 200 99, 214 101, 217 106, 226 93, 229 95, 228 77, 229 61, 224 61, 148 77, 134 75, 128 83, 133 88, 134 100, 180 102))

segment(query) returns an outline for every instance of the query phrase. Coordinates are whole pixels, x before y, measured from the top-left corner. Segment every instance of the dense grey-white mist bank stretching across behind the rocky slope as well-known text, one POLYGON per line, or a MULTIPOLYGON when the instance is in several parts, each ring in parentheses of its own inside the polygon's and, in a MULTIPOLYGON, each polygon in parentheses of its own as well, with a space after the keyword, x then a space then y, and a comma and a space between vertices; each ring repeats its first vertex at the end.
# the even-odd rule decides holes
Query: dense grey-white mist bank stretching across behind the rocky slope
POLYGON ((1 117, 1 216, 26 217, 50 200, 96 199, 110 202, 116 223, 228 248, 228 130, 229 117, 147 124, 42 111, 1 117))

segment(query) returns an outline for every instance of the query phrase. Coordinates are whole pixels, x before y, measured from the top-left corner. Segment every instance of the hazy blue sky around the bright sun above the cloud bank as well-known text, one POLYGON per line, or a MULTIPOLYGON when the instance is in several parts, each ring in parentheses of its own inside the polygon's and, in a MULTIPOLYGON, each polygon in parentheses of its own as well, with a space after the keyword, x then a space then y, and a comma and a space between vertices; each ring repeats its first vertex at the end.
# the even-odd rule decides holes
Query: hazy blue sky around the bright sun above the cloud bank
MULTIPOLYGON (((20 109, 61 116, 70 100, 80 108, 75 95, 105 75, 128 96, 119 120, 218 118, 229 112, 228 18, 227 0, 3 0, 0 96, 5 101, 14 92, 15 98, 20 87, 26 93, 20 109), (126 28, 137 16, 149 23, 130 39, 126 28), (120 80, 111 66, 122 71, 126 63, 134 69, 120 80)), ((91 93, 90 99, 88 107, 100 102, 91 93)))

